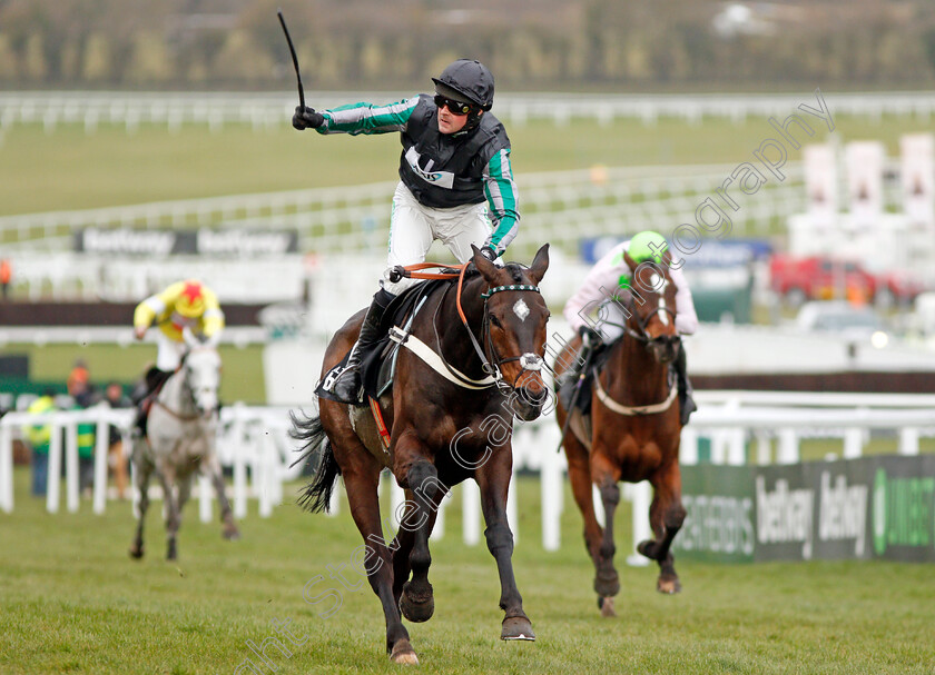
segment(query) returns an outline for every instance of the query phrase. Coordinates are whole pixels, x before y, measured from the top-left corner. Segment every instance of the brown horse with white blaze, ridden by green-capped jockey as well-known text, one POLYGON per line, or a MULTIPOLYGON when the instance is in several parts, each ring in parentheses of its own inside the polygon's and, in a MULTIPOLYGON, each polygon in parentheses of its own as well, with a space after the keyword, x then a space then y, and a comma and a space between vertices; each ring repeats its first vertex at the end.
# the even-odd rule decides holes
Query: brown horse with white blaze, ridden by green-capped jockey
MULTIPOLYGON (((594 590, 604 616, 613 616, 613 596, 620 580, 613 566, 613 514, 620 502, 618 483, 649 480, 653 498, 649 520, 653 539, 638 550, 659 564, 657 588, 678 593, 670 546, 685 520, 681 504, 679 443, 681 425, 677 386, 670 364, 681 349, 676 331, 676 285, 669 276, 668 251, 662 265, 637 265, 624 257, 632 271, 630 290, 609 301, 621 302, 623 335, 608 347, 602 366, 593 375, 590 415, 575 406, 569 411, 560 401, 557 420, 565 429, 562 438, 568 473, 578 507, 584 517, 584 543, 597 570, 594 590), (604 526, 598 524, 591 485, 600 492, 604 526)), ((557 376, 572 363, 580 338, 569 343, 555 363, 557 376)))

